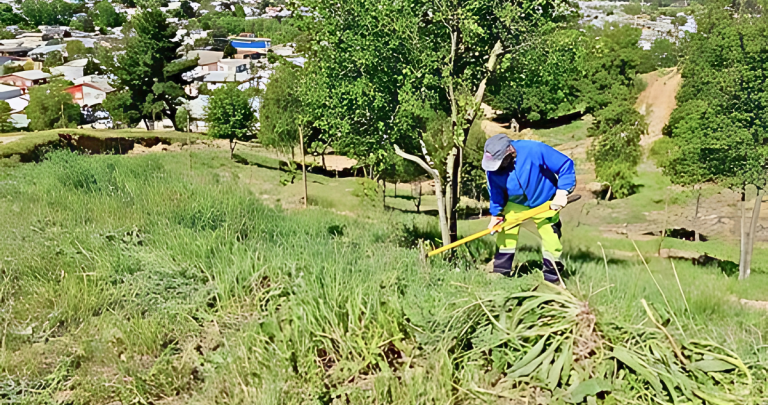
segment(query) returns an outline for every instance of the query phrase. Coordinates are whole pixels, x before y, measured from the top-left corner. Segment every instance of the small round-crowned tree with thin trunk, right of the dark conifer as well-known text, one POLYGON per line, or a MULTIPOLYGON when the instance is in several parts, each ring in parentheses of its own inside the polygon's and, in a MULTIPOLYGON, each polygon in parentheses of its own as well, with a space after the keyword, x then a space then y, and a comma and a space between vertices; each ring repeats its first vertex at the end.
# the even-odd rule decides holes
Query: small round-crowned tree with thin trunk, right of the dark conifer
POLYGON ((229 139, 229 157, 233 157, 237 141, 245 141, 254 133, 258 121, 251 107, 248 95, 230 83, 211 93, 205 107, 205 122, 208 135, 218 139, 229 139))

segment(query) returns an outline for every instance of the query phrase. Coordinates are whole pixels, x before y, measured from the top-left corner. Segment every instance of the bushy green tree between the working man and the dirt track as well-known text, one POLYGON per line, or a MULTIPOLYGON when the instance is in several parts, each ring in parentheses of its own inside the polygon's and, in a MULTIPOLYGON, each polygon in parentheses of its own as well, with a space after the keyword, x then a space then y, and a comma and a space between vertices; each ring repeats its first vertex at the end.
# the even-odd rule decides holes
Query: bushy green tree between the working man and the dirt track
POLYGON ((588 133, 595 140, 589 158, 595 163, 598 180, 611 185, 617 198, 629 196, 634 189, 637 165, 642 158, 640 136, 647 125, 630 100, 616 100, 595 113, 588 133))

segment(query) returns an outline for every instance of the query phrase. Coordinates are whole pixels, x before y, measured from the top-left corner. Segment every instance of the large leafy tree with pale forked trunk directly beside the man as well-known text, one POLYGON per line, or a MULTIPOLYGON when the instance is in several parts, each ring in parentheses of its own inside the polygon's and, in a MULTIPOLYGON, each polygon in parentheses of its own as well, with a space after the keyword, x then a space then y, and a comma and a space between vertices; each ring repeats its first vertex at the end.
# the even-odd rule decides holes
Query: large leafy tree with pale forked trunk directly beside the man
MULTIPOLYGON (((500 61, 565 20, 565 1, 306 0, 315 110, 337 150, 383 167, 392 149, 436 183, 443 243, 456 239, 462 151, 500 61), (445 118, 442 120, 442 118, 445 118), (440 121, 443 122, 440 122, 440 121), (427 127, 447 135, 438 159, 427 127), (442 170, 436 170, 438 167, 442 170), (443 192, 445 191, 445 198, 443 192)), ((443 138, 445 139, 445 138, 443 138)))

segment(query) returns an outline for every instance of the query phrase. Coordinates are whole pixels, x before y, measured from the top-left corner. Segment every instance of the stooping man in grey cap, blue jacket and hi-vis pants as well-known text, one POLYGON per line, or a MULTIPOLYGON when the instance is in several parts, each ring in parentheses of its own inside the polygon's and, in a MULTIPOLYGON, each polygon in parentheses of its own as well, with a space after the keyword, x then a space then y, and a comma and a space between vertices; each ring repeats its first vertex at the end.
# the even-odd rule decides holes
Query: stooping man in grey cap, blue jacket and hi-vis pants
MULTIPOLYGON (((544 279, 559 282, 564 267, 560 262, 559 210, 568 204, 568 194, 576 187, 573 160, 555 148, 536 141, 513 141, 504 134, 494 135, 485 142, 483 170, 488 176, 491 196, 491 222, 494 228, 504 217, 538 207, 552 201, 544 214, 533 217, 541 235, 544 279)), ((498 232, 499 250, 493 258, 493 272, 509 276, 517 248, 520 226, 498 232)))

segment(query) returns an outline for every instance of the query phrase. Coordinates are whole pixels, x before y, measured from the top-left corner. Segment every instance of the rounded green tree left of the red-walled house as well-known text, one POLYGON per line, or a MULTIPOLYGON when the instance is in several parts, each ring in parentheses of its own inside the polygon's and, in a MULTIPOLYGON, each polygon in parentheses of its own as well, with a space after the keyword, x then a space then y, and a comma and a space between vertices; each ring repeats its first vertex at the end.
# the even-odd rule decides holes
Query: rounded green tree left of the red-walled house
POLYGON ((52 128, 75 128, 80 123, 80 106, 72 102, 72 95, 64 91, 67 85, 60 80, 29 88, 29 128, 42 131, 52 128))

